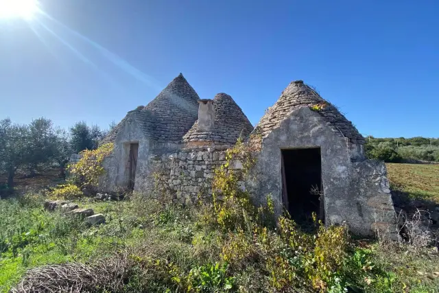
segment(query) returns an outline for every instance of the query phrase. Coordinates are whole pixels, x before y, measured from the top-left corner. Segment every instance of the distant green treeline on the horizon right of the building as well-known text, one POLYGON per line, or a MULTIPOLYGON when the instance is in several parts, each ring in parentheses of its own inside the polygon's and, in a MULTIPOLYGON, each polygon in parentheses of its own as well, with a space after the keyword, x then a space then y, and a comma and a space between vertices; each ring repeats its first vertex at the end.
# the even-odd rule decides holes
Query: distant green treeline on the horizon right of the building
POLYGON ((425 137, 378 139, 368 136, 364 149, 369 159, 379 159, 388 163, 411 160, 439 162, 439 139, 425 137))

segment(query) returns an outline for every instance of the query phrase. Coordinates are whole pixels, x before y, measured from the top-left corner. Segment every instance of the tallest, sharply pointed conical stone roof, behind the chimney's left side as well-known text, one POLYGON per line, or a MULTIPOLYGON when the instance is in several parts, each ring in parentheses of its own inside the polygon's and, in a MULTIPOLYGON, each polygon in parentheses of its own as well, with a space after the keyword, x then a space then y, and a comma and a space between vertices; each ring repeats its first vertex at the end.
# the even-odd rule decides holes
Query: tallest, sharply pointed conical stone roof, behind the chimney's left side
POLYGON ((147 106, 128 112, 102 143, 114 141, 128 117, 137 121, 145 137, 179 143, 198 119, 198 99, 198 94, 180 73, 147 106))

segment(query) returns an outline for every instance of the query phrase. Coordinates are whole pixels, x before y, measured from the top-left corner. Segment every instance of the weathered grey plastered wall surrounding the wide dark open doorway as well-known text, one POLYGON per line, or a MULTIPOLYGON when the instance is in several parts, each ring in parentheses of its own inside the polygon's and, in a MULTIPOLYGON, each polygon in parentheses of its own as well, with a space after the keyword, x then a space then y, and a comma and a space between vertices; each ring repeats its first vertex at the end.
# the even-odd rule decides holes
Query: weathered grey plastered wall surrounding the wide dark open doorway
POLYGON ((247 182, 248 188, 259 201, 270 194, 280 214, 283 207, 281 150, 320 147, 325 223, 346 222, 353 232, 370 235, 373 233, 371 225, 380 219, 381 213, 383 221, 379 222, 389 222, 394 215, 393 208, 382 209, 383 204, 392 207, 390 194, 385 192, 388 191, 385 167, 368 160, 353 163, 353 157, 363 157, 359 153, 361 148, 351 148, 343 137, 334 135, 335 131, 309 108, 294 110, 263 138, 257 165, 247 182), (381 200, 378 208, 367 203, 374 196, 381 200))

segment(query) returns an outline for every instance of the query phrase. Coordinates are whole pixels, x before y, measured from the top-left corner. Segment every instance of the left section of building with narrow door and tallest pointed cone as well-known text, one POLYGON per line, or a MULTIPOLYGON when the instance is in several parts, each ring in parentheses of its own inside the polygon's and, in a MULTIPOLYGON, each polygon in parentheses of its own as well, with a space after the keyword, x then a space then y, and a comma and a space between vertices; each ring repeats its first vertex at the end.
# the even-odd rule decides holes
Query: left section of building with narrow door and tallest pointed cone
POLYGON ((154 155, 178 150, 198 119, 198 97, 180 73, 147 106, 138 106, 102 143, 114 143, 106 159, 102 185, 107 191, 147 189, 149 161, 154 155))

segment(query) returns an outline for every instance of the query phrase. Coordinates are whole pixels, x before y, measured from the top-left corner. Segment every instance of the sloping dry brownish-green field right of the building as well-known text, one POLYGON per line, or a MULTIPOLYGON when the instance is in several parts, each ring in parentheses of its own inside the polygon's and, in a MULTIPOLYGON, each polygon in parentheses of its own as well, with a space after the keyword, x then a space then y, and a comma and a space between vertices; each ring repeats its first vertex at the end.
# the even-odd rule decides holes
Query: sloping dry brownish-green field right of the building
POLYGON ((412 198, 439 202, 439 165, 387 163, 392 187, 412 198))

